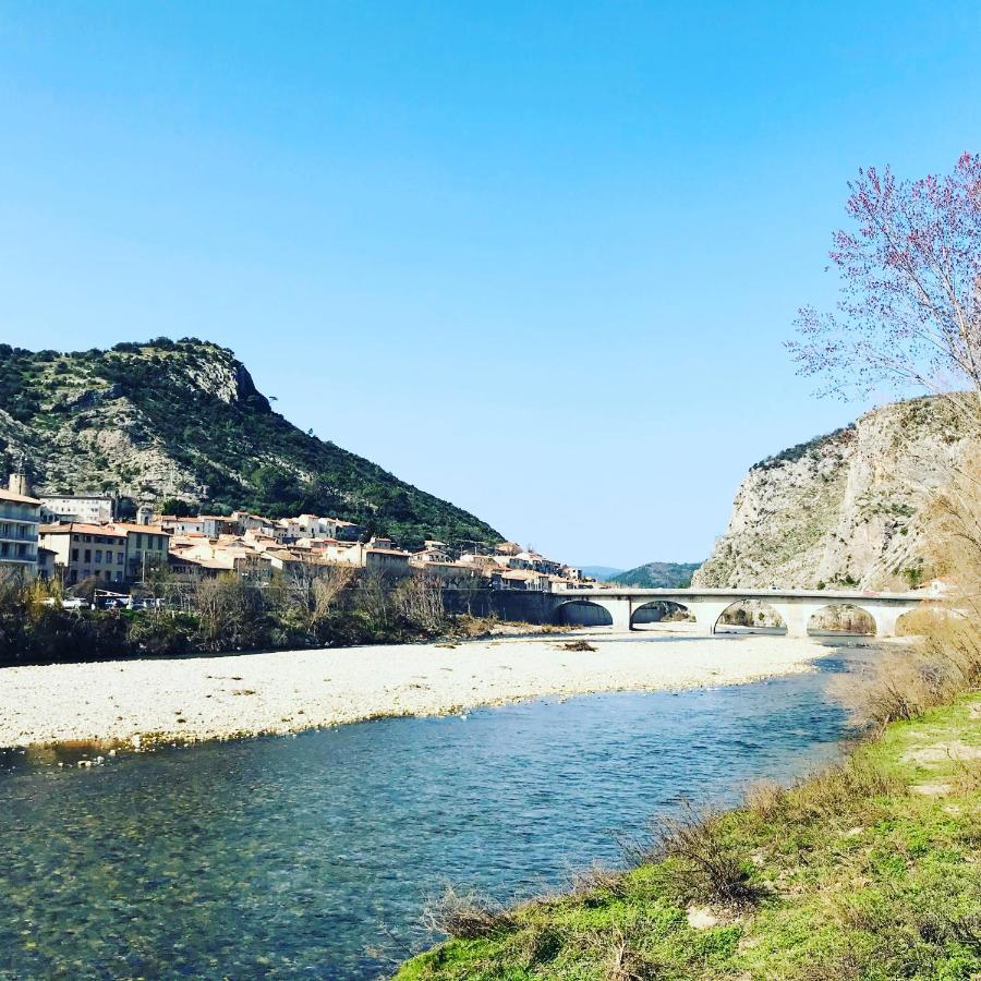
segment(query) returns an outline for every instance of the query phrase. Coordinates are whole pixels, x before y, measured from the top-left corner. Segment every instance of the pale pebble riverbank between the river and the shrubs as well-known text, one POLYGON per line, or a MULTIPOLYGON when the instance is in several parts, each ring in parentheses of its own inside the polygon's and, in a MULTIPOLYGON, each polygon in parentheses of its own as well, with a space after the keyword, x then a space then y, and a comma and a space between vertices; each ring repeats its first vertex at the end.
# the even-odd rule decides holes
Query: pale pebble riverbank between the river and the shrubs
POLYGON ((289 734, 545 695, 739 685, 810 669, 814 641, 603 628, 434 644, 0 668, 0 747, 289 734), (584 641, 595 650, 568 650, 584 641))

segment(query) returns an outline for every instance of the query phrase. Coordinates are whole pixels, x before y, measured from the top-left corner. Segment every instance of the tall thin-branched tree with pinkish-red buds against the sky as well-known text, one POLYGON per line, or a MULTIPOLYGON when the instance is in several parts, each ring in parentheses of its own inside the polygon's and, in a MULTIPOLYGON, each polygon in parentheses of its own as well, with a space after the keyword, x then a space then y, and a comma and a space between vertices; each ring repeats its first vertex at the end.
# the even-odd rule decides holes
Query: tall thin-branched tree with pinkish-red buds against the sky
POLYGON ((799 373, 843 397, 967 388, 981 412, 981 155, 915 181, 870 167, 848 186, 852 227, 829 253, 840 298, 800 311, 799 373))

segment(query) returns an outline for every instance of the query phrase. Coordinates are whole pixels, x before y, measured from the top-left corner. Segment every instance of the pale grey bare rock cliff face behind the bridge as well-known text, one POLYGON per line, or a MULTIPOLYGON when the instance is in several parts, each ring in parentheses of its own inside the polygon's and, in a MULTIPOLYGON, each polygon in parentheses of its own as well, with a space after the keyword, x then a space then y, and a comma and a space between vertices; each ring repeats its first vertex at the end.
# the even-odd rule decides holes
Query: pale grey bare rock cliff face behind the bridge
POLYGON ((908 589, 924 569, 930 491, 960 445, 949 403, 924 398, 758 463, 693 583, 908 589))

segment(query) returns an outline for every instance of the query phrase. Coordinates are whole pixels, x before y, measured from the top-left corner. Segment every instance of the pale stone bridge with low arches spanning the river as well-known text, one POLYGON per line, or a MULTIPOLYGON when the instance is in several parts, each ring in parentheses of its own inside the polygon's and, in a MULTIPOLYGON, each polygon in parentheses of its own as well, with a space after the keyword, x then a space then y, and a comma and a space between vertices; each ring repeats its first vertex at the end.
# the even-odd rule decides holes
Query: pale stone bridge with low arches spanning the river
POLYGON ((871 593, 852 590, 637 590, 629 588, 570 588, 546 594, 553 622, 570 603, 590 603, 607 610, 616 630, 633 630, 633 615, 652 603, 676 603, 695 618, 699 627, 715 633, 718 619, 730 606, 760 600, 779 614, 789 637, 806 637, 811 617, 828 606, 848 605, 867 613, 876 637, 893 637, 896 621, 931 597, 922 593, 871 593))

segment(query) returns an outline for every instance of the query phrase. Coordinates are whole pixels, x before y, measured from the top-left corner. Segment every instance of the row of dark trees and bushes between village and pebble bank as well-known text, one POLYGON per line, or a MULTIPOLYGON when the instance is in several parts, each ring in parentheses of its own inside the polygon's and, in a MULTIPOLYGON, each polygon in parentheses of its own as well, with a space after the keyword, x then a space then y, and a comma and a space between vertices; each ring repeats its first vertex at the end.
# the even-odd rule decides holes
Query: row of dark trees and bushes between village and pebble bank
POLYGON ((263 585, 160 573, 147 586, 158 607, 75 610, 62 607, 57 588, 0 579, 0 663, 386 643, 449 626, 440 582, 423 574, 303 567, 263 585))

